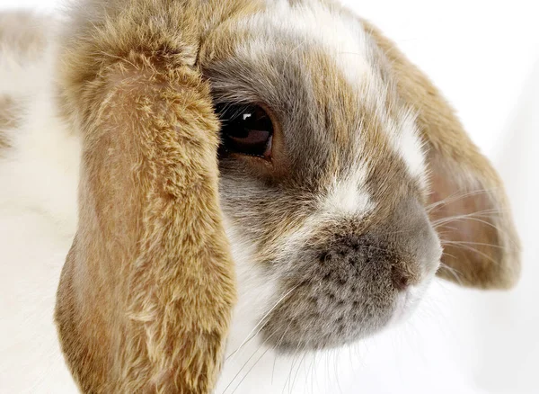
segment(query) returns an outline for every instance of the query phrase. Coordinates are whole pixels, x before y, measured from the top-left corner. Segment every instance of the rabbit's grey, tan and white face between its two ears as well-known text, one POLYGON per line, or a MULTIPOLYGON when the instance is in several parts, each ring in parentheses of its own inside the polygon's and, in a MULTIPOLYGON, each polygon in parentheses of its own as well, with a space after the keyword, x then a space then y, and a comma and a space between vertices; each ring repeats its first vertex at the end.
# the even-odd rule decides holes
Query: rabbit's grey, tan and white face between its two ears
POLYGON ((399 319, 437 271, 414 114, 361 22, 276 2, 208 37, 220 195, 240 302, 280 351, 399 319), (247 307, 245 307, 247 308, 247 307))

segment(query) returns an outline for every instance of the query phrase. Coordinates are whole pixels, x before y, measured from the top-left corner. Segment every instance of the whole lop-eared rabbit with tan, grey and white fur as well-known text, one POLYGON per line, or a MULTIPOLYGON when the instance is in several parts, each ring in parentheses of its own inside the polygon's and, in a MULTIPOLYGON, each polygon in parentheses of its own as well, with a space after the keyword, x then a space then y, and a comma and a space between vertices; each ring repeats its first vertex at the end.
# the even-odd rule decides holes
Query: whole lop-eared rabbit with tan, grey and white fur
POLYGON ((337 1, 68 16, 0 20, 40 40, 0 34, 6 390, 337 392, 319 354, 384 336, 436 275, 516 284, 496 171, 337 1))

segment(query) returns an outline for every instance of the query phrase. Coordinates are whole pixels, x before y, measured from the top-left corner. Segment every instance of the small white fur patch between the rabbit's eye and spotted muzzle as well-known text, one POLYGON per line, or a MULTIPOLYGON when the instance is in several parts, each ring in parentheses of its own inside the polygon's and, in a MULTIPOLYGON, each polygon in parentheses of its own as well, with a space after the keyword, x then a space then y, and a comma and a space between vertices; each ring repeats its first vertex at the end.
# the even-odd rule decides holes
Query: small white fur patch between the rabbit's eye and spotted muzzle
POLYGON ((363 167, 335 179, 320 203, 324 215, 364 216, 373 210, 374 203, 365 190, 367 173, 363 167))

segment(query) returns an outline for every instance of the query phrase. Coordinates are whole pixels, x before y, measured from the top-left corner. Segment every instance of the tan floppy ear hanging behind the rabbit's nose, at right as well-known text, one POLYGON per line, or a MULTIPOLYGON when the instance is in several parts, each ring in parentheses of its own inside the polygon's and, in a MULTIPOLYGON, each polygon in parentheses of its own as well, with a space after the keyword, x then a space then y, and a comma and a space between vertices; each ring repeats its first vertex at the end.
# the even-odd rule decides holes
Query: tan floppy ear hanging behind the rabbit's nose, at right
POLYGON ((519 241, 499 175, 429 78, 364 24, 388 58, 402 99, 418 113, 427 143, 429 216, 444 245, 438 275, 483 289, 513 286, 520 273, 519 241))

